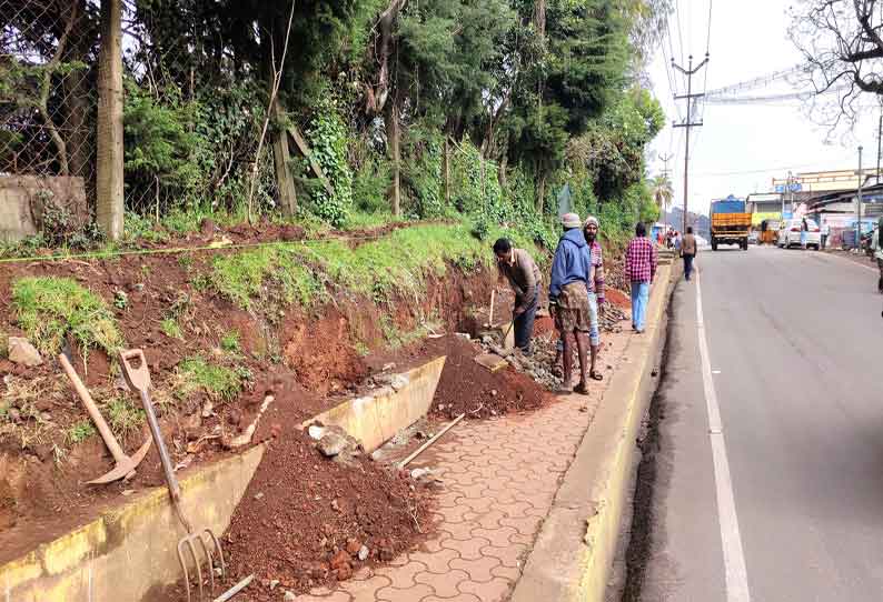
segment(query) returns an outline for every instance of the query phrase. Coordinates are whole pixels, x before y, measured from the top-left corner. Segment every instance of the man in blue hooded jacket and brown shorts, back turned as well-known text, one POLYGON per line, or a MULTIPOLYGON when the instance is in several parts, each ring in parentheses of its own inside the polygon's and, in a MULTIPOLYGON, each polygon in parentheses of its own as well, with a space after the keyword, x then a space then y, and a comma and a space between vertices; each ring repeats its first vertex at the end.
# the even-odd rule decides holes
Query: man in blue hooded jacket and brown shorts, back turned
POLYGON ((549 284, 549 312, 555 319, 555 328, 564 341, 563 382, 559 392, 588 393, 588 362, 586 339, 591 329, 588 288, 592 278, 592 252, 583 235, 583 223, 576 213, 562 215, 564 234, 555 250, 552 261, 552 283, 549 284), (576 339, 579 353, 579 384, 572 388, 573 342, 576 339))

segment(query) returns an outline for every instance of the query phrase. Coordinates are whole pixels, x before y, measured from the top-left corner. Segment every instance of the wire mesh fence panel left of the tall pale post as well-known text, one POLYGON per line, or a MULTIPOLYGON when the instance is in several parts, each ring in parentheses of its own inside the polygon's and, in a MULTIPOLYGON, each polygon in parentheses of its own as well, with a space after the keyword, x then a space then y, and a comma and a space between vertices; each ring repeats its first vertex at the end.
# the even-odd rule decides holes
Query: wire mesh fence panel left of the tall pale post
POLYGON ((95 183, 98 9, 0 0, 0 173, 95 183))

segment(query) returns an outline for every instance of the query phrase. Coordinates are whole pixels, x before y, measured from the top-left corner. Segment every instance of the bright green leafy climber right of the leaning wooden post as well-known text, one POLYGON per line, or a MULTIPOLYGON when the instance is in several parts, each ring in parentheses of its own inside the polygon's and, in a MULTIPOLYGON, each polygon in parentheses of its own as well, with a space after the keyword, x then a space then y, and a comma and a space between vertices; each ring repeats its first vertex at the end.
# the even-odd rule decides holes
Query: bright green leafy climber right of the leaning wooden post
POLYGON ((307 140, 312 157, 334 188, 334 194, 329 194, 324 187, 312 187, 312 211, 338 228, 346 222, 353 207, 353 173, 347 164, 346 128, 331 103, 318 107, 307 129, 307 140))

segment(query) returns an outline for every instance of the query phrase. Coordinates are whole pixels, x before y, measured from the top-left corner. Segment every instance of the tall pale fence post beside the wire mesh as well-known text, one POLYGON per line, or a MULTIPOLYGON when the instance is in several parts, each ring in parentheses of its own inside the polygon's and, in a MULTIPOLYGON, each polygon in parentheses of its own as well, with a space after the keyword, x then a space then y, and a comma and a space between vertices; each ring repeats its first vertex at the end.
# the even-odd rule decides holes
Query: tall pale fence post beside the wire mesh
POLYGON ((101 1, 98 59, 98 225, 109 240, 122 235, 122 0, 101 1))

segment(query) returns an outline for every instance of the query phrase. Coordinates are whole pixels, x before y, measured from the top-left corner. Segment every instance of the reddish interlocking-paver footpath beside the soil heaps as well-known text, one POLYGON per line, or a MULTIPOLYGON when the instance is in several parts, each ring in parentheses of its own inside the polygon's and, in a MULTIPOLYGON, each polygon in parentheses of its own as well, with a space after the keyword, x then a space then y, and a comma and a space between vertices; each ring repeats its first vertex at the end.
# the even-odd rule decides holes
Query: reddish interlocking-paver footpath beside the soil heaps
POLYGON ((631 337, 605 335, 613 344, 598 361, 604 381, 593 382, 591 395, 554 398, 533 413, 455 427, 411 463, 431 468, 444 482, 434 538, 389 565, 363 569, 335 590, 316 589, 297 600, 506 600, 613 370, 627 361, 631 337))

